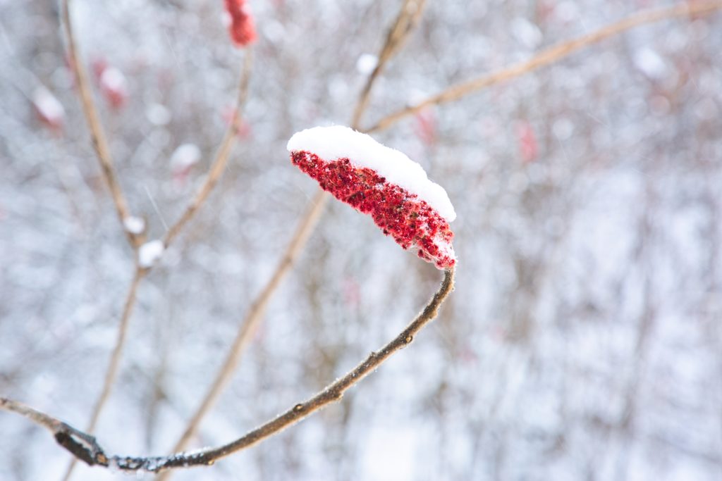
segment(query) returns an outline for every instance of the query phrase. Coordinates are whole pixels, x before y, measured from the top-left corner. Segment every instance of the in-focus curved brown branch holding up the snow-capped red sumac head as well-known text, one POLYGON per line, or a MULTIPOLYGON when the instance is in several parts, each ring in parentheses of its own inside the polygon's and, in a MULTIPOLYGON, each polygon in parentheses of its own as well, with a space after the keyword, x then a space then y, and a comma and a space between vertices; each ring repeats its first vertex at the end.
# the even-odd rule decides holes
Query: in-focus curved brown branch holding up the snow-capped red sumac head
POLYGON ((181 467, 207 466, 213 464, 218 459, 253 446, 273 436, 275 433, 288 428, 290 425, 297 423, 308 415, 313 414, 313 412, 320 410, 322 407, 341 400, 344 392, 357 384, 357 382, 367 376, 367 374, 370 374, 374 369, 377 369, 378 366, 391 357, 393 353, 409 345, 409 343, 414 340, 417 332, 438 315, 439 307, 448 295, 451 294, 451 291, 453 291, 453 278, 453 269, 445 270, 441 286, 416 319, 406 326, 399 335, 384 345, 383 348, 380 348, 377 352, 370 353, 370 355, 354 369, 334 381, 333 384, 309 400, 294 405, 277 418, 270 420, 253 431, 249 431, 235 441, 217 448, 181 452, 171 454, 170 456, 109 456, 105 454, 105 451, 97 444, 95 437, 78 431, 70 425, 43 412, 4 397, 0 397, 0 408, 17 412, 17 414, 23 415, 33 422, 42 425, 44 428, 47 428, 53 433, 58 444, 61 444, 61 446, 70 451, 77 459, 81 459, 91 466, 110 467, 123 471, 149 472, 160 472, 166 469, 181 467))

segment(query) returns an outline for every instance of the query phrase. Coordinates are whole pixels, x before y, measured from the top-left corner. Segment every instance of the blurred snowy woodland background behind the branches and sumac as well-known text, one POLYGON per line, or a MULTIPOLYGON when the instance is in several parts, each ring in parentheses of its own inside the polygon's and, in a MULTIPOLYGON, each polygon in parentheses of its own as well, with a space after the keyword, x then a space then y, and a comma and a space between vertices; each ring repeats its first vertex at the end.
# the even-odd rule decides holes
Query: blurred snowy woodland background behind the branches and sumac
MULTIPOLYGON (((251 2, 245 126, 216 190, 139 286, 96 430, 109 451, 165 454, 183 431, 317 190, 287 139, 349 123, 399 3, 251 2)), ((128 80, 122 107, 97 99, 149 238, 183 211, 234 101, 244 53, 221 4, 74 2, 84 60, 128 80), (186 143, 201 162, 179 173, 169 159, 186 143)), ((361 124, 662 4, 430 1, 361 124)), ((338 405, 173 479, 721 479, 721 52, 721 14, 665 20, 375 133, 448 191, 456 291, 338 405)), ((0 65, 0 394, 82 427, 132 251, 54 1, 0 1, 0 65), (33 110, 40 85, 63 105, 62 128, 33 110)), ((323 388, 439 281, 370 219, 329 203, 190 447, 230 441, 323 388)), ((70 456, 48 433, 7 412, 0 426, 0 480, 61 479, 70 456)), ((79 465, 73 479, 127 477, 79 465)))

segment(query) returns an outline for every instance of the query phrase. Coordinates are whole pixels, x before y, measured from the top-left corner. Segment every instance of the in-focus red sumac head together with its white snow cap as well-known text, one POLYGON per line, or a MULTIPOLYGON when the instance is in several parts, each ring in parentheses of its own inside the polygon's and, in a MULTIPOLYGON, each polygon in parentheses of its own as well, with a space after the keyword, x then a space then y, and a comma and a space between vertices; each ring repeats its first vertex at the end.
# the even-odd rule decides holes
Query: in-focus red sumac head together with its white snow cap
POLYGON ((384 234, 439 269, 456 265, 446 191, 401 152, 347 127, 315 127, 288 141, 291 161, 323 190, 369 214, 384 234))

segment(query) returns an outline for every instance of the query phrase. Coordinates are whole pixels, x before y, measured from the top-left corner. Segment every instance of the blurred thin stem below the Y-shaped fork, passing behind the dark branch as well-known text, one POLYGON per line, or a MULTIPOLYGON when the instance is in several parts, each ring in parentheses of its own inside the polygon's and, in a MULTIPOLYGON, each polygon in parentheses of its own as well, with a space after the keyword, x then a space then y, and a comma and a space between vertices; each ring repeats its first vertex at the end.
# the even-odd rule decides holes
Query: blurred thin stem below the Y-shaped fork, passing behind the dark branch
MULTIPOLYGON (((135 274, 133 275, 133 281, 131 281, 131 286, 128 289, 128 294, 126 295, 125 304, 123 304, 123 314, 121 315, 121 322, 120 324, 118 324, 118 332, 116 334, 116 345, 113 347, 113 353, 110 354, 108 369, 105 371, 105 379, 103 379, 103 389, 100 390, 100 394, 98 395, 97 400, 95 400, 95 406, 93 407, 92 413, 90 415, 90 420, 88 421, 87 427, 85 428, 86 433, 92 434, 93 431, 95 431, 95 426, 97 425, 97 421, 100 418, 100 412, 103 411, 105 403, 108 402, 110 392, 113 390, 113 384, 116 383, 116 378, 118 377, 118 367, 121 365, 123 347, 126 344, 128 325, 131 318, 131 313, 133 312, 133 306, 135 305, 136 297, 138 294, 138 286, 146 273, 147 269, 143 269, 139 265, 136 265, 135 274)), ((73 470, 75 469, 76 461, 76 459, 73 459, 68 465, 68 469, 66 469, 65 475, 63 477, 64 481, 70 479, 71 475, 73 474, 73 470)))

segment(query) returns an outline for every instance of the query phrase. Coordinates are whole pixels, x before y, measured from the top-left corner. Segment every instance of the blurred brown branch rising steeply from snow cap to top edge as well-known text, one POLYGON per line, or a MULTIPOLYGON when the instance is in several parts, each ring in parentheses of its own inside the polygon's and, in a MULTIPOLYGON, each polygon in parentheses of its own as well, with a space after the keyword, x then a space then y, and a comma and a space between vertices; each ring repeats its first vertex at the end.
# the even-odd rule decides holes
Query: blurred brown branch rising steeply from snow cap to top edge
POLYGON ((388 29, 386 42, 378 54, 376 66, 366 79, 366 84, 361 90, 351 120, 352 128, 359 128, 358 124, 361 120, 361 115, 363 115, 363 112, 365 112, 368 106, 371 87, 373 87, 373 84, 381 74, 381 71, 383 71, 386 63, 401 49, 409 37, 409 33, 411 33, 419 23, 419 19, 421 19, 422 13, 424 12, 425 3, 426 0, 404 0, 404 5, 401 6, 401 11, 399 11, 399 15, 396 17, 396 22, 393 22, 391 28, 388 29))

